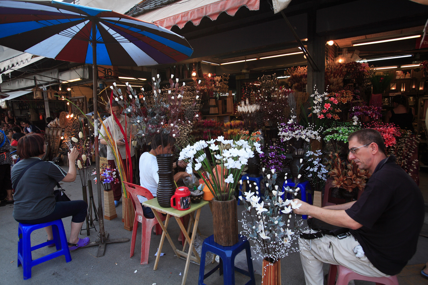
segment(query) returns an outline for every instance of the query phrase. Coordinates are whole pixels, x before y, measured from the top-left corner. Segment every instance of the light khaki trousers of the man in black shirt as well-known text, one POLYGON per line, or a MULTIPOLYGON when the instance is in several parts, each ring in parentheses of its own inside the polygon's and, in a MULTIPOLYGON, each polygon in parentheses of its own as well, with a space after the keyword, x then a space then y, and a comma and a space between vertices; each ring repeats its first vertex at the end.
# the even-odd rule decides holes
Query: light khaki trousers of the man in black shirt
POLYGON ((299 238, 300 260, 306 285, 324 284, 323 263, 340 264, 364 276, 389 276, 377 270, 366 255, 360 258, 355 256, 353 249, 359 244, 352 235, 342 239, 325 235, 311 241, 299 238))

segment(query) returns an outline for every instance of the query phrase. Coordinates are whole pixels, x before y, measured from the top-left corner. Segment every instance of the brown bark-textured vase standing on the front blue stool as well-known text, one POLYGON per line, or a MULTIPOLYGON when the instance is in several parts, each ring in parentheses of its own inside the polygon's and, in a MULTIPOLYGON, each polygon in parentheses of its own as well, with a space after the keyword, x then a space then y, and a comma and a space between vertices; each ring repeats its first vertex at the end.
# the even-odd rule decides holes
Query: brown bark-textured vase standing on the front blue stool
POLYGON ((238 242, 238 213, 236 198, 229 201, 212 200, 214 241, 223 247, 238 242))

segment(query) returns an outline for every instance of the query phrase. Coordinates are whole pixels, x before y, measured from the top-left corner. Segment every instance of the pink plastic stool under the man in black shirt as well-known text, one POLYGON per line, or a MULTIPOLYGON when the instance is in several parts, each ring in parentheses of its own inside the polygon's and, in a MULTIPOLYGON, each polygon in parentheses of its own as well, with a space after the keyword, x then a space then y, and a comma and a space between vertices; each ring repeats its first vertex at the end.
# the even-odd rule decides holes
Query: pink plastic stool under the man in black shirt
POLYGON ((336 281, 336 285, 348 285, 351 280, 364 280, 375 282, 376 285, 398 285, 397 276, 389 276, 389 277, 369 277, 360 275, 355 273, 354 271, 342 266, 342 265, 334 265, 330 264, 330 270, 328 271, 327 285, 334 285, 336 281), (336 273, 339 267, 339 276, 337 276, 336 281, 336 273))

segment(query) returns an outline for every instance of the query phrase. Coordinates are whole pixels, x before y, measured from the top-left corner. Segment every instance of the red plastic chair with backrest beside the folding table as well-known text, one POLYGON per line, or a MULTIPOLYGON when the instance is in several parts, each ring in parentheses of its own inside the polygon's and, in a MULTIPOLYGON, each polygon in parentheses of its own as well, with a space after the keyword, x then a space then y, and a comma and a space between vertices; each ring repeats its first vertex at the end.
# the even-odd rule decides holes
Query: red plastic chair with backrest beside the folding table
MULTIPOLYGON (((156 235, 162 233, 162 228, 160 227, 158 220, 156 218, 147 219, 143 214, 143 207, 141 206, 140 201, 138 200, 137 195, 144 196, 148 200, 153 199, 152 193, 144 187, 139 185, 131 184, 124 182, 126 191, 131 194, 131 199, 134 201, 135 207, 135 219, 134 219, 134 228, 132 229, 132 240, 131 240, 131 255, 130 258, 134 256, 135 250, 135 239, 137 238, 137 228, 138 222, 141 223, 141 263, 149 263, 149 247, 150 247, 150 238, 152 236, 152 228, 156 226, 156 235)), ((158 212, 160 220, 165 220, 165 217, 158 212)))

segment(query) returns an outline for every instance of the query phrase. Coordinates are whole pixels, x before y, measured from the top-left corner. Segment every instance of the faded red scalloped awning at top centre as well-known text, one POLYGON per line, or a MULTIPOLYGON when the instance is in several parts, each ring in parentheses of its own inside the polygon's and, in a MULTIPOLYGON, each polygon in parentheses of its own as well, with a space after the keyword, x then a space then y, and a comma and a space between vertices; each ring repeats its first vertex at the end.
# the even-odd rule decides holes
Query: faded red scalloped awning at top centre
POLYGON ((187 22, 198 26, 203 17, 214 21, 222 12, 234 16, 242 6, 246 6, 250 10, 259 10, 260 0, 180 0, 135 18, 158 24, 169 30, 174 25, 182 29, 187 22))

